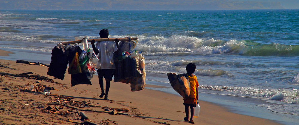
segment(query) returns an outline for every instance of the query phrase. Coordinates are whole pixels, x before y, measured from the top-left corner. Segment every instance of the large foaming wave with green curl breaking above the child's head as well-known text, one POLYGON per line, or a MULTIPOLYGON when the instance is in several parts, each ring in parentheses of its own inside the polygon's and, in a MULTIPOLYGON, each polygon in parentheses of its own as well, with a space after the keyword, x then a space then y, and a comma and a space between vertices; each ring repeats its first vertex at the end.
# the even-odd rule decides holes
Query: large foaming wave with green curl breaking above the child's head
POLYGON ((214 38, 196 38, 173 35, 169 38, 163 36, 138 36, 137 50, 148 53, 176 54, 238 54, 248 56, 298 56, 299 45, 283 45, 278 43, 260 44, 253 41, 223 41, 214 38))

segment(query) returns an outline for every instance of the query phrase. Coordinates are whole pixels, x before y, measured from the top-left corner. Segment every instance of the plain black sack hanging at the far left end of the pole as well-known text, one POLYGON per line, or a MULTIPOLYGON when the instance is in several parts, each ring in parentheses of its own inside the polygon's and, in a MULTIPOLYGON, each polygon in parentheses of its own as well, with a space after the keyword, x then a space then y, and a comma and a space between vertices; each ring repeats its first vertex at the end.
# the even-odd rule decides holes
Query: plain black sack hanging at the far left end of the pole
POLYGON ((65 70, 68 66, 69 52, 65 48, 57 48, 57 46, 55 46, 51 54, 51 63, 47 74, 63 80, 65 70))

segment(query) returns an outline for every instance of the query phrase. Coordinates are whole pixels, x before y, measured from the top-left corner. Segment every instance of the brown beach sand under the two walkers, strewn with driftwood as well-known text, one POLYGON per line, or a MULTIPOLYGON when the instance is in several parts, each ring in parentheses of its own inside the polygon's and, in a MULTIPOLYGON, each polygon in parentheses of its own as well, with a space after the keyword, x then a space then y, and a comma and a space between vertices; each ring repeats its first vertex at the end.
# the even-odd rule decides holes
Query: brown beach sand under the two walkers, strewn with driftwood
MULTIPOLYGON (((1 56, 8 54, 7 51, 1 51, 1 56), (3 54, 5 53, 5 54, 3 54)), ((20 64, 16 61, 1 60, 0 72, 10 74, 20 74, 33 72, 30 75, 47 75, 48 67, 20 64)), ((189 124, 183 120, 185 117, 183 98, 178 95, 168 94, 161 91, 147 89, 147 87, 159 87, 146 85, 142 91, 131 92, 130 86, 125 83, 113 83, 109 91, 108 98, 112 101, 99 98, 100 86, 97 75, 91 79, 92 85, 76 85, 71 87, 71 76, 66 73, 65 79, 54 79, 57 83, 28 79, 25 77, 14 77, 10 75, 0 75, 0 124, 80 124, 81 121, 77 113, 66 111, 84 112, 89 118, 89 122, 95 124, 189 124), (39 82, 39 83, 38 83, 39 82), (42 95, 39 92, 25 92, 22 89, 29 88, 30 85, 46 85, 54 87, 50 90, 51 95, 42 95), (77 90, 75 90, 77 89, 77 90), (54 95, 63 95, 71 97, 72 101, 97 105, 100 107, 88 107, 88 105, 76 105, 74 102, 63 101, 55 98, 54 95), (60 100, 60 102, 57 102, 60 100), (55 103, 55 105, 49 105, 55 103), (60 105, 59 105, 60 104, 60 105), (67 105, 65 107, 62 105, 67 105), (47 113, 48 106, 57 108, 60 112, 47 113), (92 109, 104 111, 105 108, 126 108, 129 112, 123 112, 128 115, 111 115, 109 113, 82 111, 92 109), (61 114, 59 114, 61 113, 61 114), (63 116, 62 116, 63 115, 63 116)), ((195 124, 203 125, 239 125, 255 124, 276 125, 278 123, 267 119, 256 118, 246 115, 240 115, 229 112, 228 109, 205 101, 199 101, 201 110, 199 118, 194 118, 195 124)), ((53 111, 53 110, 52 110, 53 111)))

